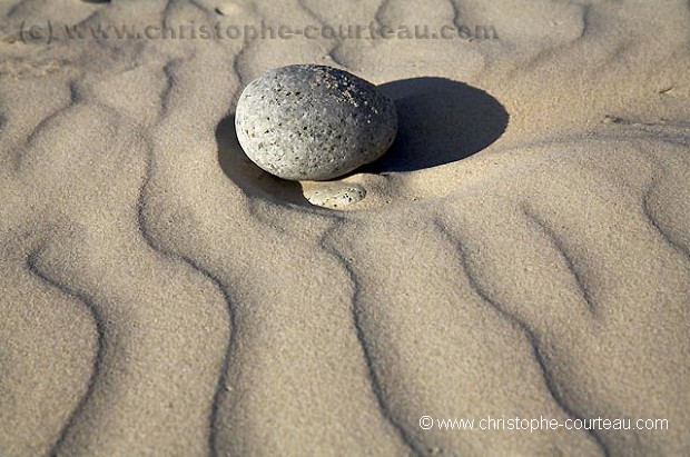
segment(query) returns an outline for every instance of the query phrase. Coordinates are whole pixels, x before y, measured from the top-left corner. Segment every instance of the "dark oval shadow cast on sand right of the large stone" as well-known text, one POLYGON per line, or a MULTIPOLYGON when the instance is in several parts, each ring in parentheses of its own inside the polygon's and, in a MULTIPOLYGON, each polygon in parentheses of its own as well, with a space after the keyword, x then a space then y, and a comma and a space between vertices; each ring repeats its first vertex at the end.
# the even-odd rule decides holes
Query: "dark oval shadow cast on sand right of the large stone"
POLYGON ((497 140, 509 113, 481 89, 445 78, 412 78, 378 88, 395 101, 397 137, 358 171, 414 171, 462 160, 497 140))

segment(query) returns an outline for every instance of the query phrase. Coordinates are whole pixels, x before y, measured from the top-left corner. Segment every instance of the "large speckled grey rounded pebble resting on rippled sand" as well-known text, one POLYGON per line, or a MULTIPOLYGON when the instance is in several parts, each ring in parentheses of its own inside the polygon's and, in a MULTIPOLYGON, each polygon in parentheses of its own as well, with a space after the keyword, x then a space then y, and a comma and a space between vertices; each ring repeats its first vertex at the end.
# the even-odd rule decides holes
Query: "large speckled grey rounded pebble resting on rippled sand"
POLYGON ((290 180, 326 180, 383 156, 397 133, 393 101, 371 82, 317 64, 269 70, 252 81, 235 112, 245 153, 290 180))

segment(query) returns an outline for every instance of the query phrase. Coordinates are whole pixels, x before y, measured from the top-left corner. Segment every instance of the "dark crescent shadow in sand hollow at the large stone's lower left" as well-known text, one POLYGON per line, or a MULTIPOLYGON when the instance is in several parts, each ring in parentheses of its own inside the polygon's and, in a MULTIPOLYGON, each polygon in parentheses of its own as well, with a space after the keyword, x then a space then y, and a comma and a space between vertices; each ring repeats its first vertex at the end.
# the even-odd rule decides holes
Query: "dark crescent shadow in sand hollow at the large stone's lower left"
POLYGON ((223 119, 216 128, 218 163, 220 169, 244 191, 258 195, 277 202, 310 206, 302 193, 297 181, 277 178, 257 167, 239 146, 235 131, 235 115, 223 119))

